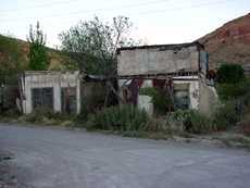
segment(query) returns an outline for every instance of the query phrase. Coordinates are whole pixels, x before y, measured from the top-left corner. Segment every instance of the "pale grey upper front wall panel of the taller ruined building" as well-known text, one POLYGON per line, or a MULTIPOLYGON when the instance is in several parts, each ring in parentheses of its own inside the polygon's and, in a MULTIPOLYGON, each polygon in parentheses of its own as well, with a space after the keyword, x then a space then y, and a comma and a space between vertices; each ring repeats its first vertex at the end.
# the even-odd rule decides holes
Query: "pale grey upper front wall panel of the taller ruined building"
POLYGON ((160 47, 122 50, 117 55, 120 76, 176 73, 183 70, 199 71, 199 51, 196 46, 178 50, 160 47))

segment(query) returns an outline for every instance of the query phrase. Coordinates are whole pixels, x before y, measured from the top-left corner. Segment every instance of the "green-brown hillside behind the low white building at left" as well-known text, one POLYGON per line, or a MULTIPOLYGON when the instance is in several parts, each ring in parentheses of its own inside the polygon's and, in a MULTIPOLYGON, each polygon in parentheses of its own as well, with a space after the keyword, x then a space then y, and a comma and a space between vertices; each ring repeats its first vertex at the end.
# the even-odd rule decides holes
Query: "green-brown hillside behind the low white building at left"
MULTIPOLYGON (((73 61, 61 51, 47 49, 50 60, 49 70, 65 70, 67 63, 73 61)), ((0 71, 27 70, 28 53, 28 42, 0 35, 0 71)))

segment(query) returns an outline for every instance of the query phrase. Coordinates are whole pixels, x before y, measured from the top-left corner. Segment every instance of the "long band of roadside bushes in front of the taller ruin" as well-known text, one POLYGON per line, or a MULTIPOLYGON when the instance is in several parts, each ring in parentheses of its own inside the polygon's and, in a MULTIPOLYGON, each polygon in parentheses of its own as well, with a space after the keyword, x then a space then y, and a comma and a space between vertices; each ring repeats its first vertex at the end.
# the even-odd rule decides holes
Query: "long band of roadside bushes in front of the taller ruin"
POLYGON ((176 111, 161 117, 149 117, 134 105, 104 109, 88 118, 89 129, 147 131, 165 134, 208 134, 217 130, 213 120, 196 110, 176 111))

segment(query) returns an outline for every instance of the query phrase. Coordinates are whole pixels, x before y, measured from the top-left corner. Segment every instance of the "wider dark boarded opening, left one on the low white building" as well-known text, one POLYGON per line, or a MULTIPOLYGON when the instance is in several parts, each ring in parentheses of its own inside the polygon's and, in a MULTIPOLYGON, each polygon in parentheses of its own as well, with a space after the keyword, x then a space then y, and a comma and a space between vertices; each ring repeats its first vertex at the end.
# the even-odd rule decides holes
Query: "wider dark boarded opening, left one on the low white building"
POLYGON ((33 109, 49 108, 53 109, 53 89, 35 88, 32 89, 33 109))

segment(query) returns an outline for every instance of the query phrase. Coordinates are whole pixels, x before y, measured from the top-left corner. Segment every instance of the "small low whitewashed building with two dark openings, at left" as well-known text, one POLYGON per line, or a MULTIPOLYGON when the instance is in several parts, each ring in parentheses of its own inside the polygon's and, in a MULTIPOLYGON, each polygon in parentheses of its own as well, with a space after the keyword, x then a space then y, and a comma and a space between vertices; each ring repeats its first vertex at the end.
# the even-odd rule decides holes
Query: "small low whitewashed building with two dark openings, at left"
POLYGON ((80 112, 80 74, 76 72, 27 71, 20 79, 23 113, 37 108, 54 112, 80 112))

